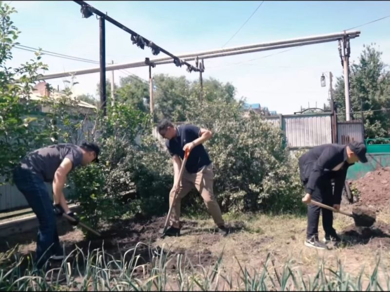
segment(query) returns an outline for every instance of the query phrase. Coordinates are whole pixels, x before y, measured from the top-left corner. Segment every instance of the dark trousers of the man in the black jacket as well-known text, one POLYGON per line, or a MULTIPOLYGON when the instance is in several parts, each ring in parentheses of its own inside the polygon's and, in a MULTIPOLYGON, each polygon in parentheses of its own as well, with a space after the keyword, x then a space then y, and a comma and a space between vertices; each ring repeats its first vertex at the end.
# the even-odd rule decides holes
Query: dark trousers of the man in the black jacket
MULTIPOLYGON (((306 183, 304 182, 305 192, 306 183)), ((312 193, 312 200, 324 203, 328 206, 333 206, 333 190, 331 179, 327 177, 320 177, 315 185, 312 193)), ((325 234, 334 235, 336 231, 333 228, 333 212, 331 210, 323 209, 313 204, 308 205, 308 227, 306 230, 307 239, 313 236, 318 238, 318 222, 320 219, 320 210, 322 212, 322 227, 325 234)))

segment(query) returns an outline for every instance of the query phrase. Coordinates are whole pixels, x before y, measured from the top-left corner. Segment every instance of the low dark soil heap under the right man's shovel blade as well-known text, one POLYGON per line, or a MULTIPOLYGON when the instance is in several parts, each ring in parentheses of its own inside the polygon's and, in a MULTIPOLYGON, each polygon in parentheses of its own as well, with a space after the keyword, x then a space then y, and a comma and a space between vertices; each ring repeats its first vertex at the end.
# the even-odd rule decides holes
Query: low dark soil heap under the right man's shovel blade
POLYGON ((340 234, 350 244, 370 244, 390 247, 390 225, 381 221, 371 227, 359 227, 351 224, 340 234))

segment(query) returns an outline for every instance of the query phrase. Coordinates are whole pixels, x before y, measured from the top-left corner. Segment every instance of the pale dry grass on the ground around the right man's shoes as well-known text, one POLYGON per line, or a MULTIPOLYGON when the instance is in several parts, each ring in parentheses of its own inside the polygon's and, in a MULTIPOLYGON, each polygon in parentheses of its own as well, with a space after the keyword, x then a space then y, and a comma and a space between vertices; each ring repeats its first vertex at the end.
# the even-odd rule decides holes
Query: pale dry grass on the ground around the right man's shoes
MULTIPOLYGON (((351 211, 351 206, 345 205, 343 209, 351 211)), ((155 245, 161 246, 165 243, 173 249, 208 249, 217 256, 223 252, 222 270, 225 272, 238 273, 237 260, 248 269, 259 269, 269 253, 276 267, 282 268, 286 261, 292 260, 294 266, 301 269, 304 274, 311 274, 312 271, 317 270, 323 261, 327 268, 335 269, 340 261, 347 273, 357 275, 362 266, 366 268, 366 271, 372 271, 378 255, 382 259, 382 268, 389 268, 390 246, 377 247, 368 243, 331 250, 316 250, 304 246, 306 217, 257 214, 241 215, 238 218, 226 216, 225 219, 228 223, 235 220, 243 221, 245 228, 227 237, 213 236, 201 233, 202 229, 214 228, 213 221, 211 219, 198 220, 199 232, 187 235, 183 232, 181 237, 167 237, 156 241, 155 245)), ((377 219, 386 223, 390 222, 390 208, 380 212, 377 219)), ((340 232, 351 224, 353 224, 353 219, 335 214, 333 226, 336 231, 340 232)), ((319 237, 321 239, 324 236, 320 219, 319 237)))

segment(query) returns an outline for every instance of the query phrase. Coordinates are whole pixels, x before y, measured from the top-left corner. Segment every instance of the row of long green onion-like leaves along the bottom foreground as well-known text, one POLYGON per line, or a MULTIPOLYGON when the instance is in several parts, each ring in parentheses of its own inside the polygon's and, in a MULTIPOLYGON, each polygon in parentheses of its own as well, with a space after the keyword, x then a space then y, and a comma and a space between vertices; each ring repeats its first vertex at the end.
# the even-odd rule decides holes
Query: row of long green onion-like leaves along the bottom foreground
POLYGON ((278 264, 268 254, 254 269, 235 258, 234 266, 239 270, 234 273, 222 268, 223 254, 211 267, 204 267, 195 265, 186 255, 175 258, 170 249, 160 251, 148 246, 150 263, 141 264, 142 250, 145 251, 144 244, 138 243, 116 258, 104 249, 84 253, 77 248, 63 259, 59 268, 53 269, 65 276, 66 281, 60 281, 56 272, 48 272, 51 280, 46 281, 42 271, 34 271, 30 261, 26 269, 24 258, 11 250, 0 255, 0 291, 168 291, 173 289, 173 283, 176 291, 388 291, 390 288, 390 277, 380 256, 370 271, 362 267, 350 274, 340 259, 335 267, 319 260, 312 273, 305 273, 295 259, 278 264), (178 267, 174 272, 169 269, 172 262, 178 267), (137 273, 139 269, 143 276, 137 273))

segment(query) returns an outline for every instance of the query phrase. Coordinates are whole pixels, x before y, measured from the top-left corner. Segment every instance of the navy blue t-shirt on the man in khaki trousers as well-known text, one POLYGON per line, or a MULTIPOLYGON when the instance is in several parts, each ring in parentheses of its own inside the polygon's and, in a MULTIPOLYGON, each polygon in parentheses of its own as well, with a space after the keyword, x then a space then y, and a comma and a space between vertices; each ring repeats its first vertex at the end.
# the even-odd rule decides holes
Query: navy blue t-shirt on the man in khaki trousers
MULTIPOLYGON (((199 127, 190 124, 176 128, 176 137, 165 142, 171 156, 178 155, 181 159, 184 159, 184 145, 197 139, 199 132, 199 127)), ((198 145, 188 155, 186 169, 189 173, 196 173, 203 166, 209 164, 211 164, 209 154, 207 154, 203 145, 198 145)))

